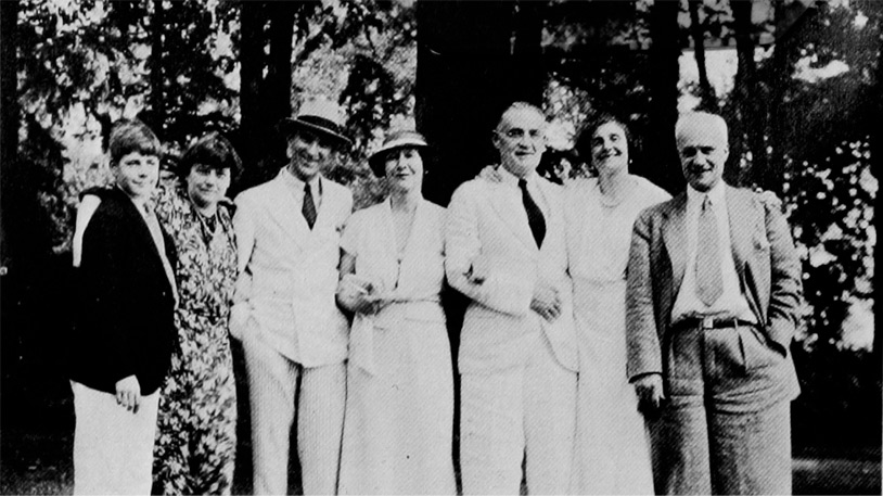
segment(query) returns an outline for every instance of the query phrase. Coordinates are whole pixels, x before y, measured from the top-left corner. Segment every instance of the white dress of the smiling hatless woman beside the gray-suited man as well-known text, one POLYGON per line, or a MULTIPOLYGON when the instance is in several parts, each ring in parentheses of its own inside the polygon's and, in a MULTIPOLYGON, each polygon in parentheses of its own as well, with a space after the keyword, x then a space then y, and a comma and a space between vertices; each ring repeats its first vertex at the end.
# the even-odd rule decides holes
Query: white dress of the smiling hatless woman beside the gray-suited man
POLYGON ((597 179, 565 190, 567 256, 579 340, 575 494, 653 494, 643 417, 626 374, 625 293, 631 227, 645 207, 669 195, 647 179, 615 206, 597 179))

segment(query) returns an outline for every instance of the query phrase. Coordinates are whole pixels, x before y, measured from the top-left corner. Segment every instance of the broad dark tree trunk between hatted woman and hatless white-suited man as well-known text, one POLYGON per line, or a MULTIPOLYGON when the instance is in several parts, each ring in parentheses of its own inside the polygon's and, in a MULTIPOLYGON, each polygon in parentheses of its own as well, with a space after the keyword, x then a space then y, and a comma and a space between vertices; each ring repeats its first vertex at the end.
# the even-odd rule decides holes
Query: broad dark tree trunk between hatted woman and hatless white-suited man
POLYGON ((498 160, 490 132, 502 107, 524 96, 513 80, 536 75, 507 74, 512 3, 426 1, 418 2, 417 15, 417 124, 436 152, 423 189, 447 205, 460 183, 498 160))

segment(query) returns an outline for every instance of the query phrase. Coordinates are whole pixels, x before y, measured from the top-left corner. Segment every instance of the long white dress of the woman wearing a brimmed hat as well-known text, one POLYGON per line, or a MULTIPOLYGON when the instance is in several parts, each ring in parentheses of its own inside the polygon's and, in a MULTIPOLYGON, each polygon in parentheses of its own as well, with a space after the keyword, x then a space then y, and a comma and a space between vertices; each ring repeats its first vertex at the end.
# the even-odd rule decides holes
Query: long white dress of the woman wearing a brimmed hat
POLYGON ((453 370, 439 294, 445 209, 421 201, 397 253, 388 200, 357 212, 341 245, 356 275, 399 303, 356 315, 349 342, 341 494, 455 494, 453 370))

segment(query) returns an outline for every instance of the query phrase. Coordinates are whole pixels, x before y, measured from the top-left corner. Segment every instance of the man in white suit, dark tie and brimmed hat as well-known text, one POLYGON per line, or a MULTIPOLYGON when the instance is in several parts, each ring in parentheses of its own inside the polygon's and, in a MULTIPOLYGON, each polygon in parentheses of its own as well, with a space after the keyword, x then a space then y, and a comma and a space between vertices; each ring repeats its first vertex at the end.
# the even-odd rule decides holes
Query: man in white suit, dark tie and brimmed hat
POLYGON ((349 143, 342 122, 335 103, 305 102, 297 117, 280 124, 289 165, 236 198, 241 276, 230 330, 245 351, 254 494, 286 493, 295 408, 304 494, 336 492, 347 322, 334 293, 353 195, 321 170, 336 147, 349 143))

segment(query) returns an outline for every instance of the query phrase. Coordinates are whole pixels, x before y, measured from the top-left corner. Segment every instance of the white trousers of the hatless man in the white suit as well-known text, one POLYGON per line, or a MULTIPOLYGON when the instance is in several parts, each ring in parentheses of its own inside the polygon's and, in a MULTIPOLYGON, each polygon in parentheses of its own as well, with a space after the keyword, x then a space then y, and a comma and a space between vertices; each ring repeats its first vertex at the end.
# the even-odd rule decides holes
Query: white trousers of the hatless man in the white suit
POLYGON ((529 494, 570 489, 576 373, 540 335, 521 367, 461 374, 463 494, 519 494, 522 461, 529 494))

